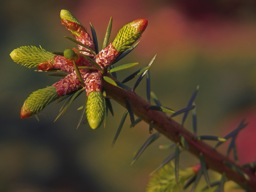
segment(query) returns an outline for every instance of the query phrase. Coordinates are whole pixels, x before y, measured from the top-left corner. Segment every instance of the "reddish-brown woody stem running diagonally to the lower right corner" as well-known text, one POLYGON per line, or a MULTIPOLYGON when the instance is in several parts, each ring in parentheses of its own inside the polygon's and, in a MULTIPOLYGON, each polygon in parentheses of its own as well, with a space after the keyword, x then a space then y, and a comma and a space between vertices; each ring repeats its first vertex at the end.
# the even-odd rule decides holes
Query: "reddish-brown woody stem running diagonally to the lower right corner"
POLYGON ((179 134, 181 134, 189 145, 189 149, 187 151, 195 155, 197 158, 199 158, 200 153, 202 153, 208 168, 221 174, 225 173, 229 180, 235 181, 242 187, 247 185, 250 192, 256 192, 256 175, 252 170, 242 169, 242 171, 244 171, 250 177, 250 180, 246 180, 245 177, 228 168, 223 163, 229 162, 235 165, 232 160, 220 154, 203 141, 196 140, 194 134, 187 131, 183 126, 175 122, 173 119, 169 119, 164 113, 160 111, 147 110, 146 107, 151 104, 142 99, 133 91, 122 90, 106 81, 104 81, 104 87, 108 96, 123 107, 126 107, 125 99, 128 98, 133 108, 133 112, 137 117, 141 118, 148 124, 153 121, 154 129, 168 137, 174 143, 180 142, 179 134))

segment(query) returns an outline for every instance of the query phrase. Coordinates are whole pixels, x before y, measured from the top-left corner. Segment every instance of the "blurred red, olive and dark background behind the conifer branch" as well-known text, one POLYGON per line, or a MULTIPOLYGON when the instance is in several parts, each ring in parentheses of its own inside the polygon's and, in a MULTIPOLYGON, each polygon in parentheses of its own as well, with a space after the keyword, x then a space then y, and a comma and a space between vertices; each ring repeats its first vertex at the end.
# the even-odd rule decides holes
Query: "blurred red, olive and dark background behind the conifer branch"
MULTIPOLYGON (((84 103, 82 94, 64 116, 53 122, 64 104, 50 104, 38 115, 20 118, 20 108, 32 91, 52 85, 58 77, 34 72, 12 61, 9 54, 20 46, 41 45, 53 52, 75 47, 63 38, 70 32, 60 22, 67 9, 90 33, 93 23, 99 47, 110 17, 110 41, 126 23, 147 18, 148 27, 140 44, 118 62, 140 62, 139 66, 117 73, 121 81, 146 66, 157 54, 150 69, 151 90, 166 107, 187 106, 197 85, 198 135, 224 137, 242 119, 249 125, 236 141, 239 164, 256 159, 256 2, 253 0, 9 0, 1 3, 0 18, 0 191, 7 192, 142 192, 150 172, 172 150, 160 137, 130 166, 133 154, 148 139, 148 125, 141 122, 130 129, 129 118, 111 149, 125 108, 112 101, 114 117, 107 127, 91 130, 76 126, 84 103)), ((136 79, 128 82, 133 87, 136 79)), ((146 99, 145 79, 136 93, 146 99)), ((182 116, 175 117, 181 122, 182 116)), ((191 114, 184 126, 192 130, 191 114)), ((214 145, 215 142, 209 142, 214 145)), ((220 151, 226 153, 225 146, 220 151)), ((198 160, 181 154, 181 165, 198 160)))

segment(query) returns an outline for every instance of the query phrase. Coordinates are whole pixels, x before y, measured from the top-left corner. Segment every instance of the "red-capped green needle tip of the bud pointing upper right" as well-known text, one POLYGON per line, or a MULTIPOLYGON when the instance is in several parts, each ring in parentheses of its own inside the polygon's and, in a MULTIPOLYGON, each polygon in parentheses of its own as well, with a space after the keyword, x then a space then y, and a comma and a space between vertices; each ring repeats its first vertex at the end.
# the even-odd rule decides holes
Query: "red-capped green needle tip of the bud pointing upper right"
POLYGON ((119 53, 129 49, 130 46, 140 38, 147 25, 148 20, 140 18, 123 26, 112 43, 115 49, 119 53))

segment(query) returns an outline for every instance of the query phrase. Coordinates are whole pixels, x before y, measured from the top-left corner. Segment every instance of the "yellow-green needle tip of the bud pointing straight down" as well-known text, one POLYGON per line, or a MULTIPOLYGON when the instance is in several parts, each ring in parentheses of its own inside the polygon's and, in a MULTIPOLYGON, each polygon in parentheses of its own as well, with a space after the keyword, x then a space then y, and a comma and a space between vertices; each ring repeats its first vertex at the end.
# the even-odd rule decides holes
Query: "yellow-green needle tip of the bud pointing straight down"
POLYGON ((105 105, 102 93, 99 91, 89 93, 86 104, 86 115, 92 129, 97 129, 101 125, 104 114, 105 105))

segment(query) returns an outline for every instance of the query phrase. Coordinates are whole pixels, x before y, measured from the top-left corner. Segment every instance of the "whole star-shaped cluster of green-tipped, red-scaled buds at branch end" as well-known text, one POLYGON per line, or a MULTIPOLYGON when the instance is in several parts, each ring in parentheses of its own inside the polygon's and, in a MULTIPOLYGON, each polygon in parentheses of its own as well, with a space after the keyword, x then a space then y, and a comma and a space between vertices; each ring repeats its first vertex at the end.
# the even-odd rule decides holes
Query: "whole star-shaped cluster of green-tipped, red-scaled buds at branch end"
MULTIPOLYGON (((26 67, 37 67, 39 71, 60 70, 67 73, 52 86, 30 94, 21 108, 21 118, 36 115, 56 99, 62 101, 62 98, 73 94, 72 102, 82 91, 86 91, 87 100, 83 111, 91 128, 96 129, 102 124, 106 113, 102 81, 107 69, 140 38, 148 21, 142 18, 126 24, 120 29, 114 41, 97 54, 95 42, 85 27, 67 10, 61 10, 60 15, 61 23, 75 37, 67 38, 77 43, 78 48, 66 49, 64 53, 52 53, 41 47, 25 46, 13 50, 10 54, 15 62, 26 67)), ((108 42, 108 39, 109 36, 104 42, 108 42)), ((66 112, 70 103, 64 104, 61 114, 66 112)))

